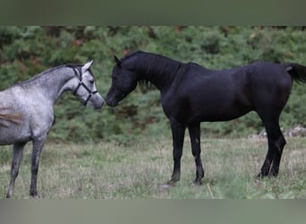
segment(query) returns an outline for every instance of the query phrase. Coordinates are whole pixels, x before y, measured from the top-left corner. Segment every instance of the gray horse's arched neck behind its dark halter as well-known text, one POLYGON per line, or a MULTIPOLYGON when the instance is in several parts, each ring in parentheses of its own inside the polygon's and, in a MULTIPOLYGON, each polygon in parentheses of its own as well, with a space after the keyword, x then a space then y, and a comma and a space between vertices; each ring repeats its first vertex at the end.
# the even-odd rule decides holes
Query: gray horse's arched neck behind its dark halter
POLYGON ((45 96, 52 104, 64 93, 66 90, 72 90, 72 79, 75 74, 72 67, 59 66, 51 68, 28 81, 16 84, 21 86, 23 90, 35 96, 45 96))

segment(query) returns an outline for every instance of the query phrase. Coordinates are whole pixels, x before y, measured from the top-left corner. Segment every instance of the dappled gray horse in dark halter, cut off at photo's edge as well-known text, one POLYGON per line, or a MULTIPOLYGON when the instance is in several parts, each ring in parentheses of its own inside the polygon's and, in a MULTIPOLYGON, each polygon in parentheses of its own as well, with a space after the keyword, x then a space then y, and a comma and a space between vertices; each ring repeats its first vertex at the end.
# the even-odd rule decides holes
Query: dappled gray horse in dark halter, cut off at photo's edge
POLYGON ((104 99, 98 93, 90 71, 92 61, 85 65, 61 65, 51 68, 28 81, 0 91, 0 144, 13 144, 11 181, 6 197, 13 195, 22 152, 27 142, 33 143, 31 157, 30 195, 38 196, 37 176, 40 153, 54 124, 56 99, 72 90, 83 105, 98 109, 104 99))

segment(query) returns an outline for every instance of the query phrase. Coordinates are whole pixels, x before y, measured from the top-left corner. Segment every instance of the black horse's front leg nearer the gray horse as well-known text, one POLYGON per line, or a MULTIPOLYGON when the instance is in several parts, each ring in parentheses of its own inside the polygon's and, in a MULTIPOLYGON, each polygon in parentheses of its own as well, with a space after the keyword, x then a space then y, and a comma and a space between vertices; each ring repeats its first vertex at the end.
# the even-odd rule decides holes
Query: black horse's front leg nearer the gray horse
POLYGON ((177 122, 171 122, 171 130, 173 137, 173 157, 174 157, 174 172, 168 185, 173 185, 180 180, 181 177, 181 158, 183 154, 183 137, 186 127, 177 122))

